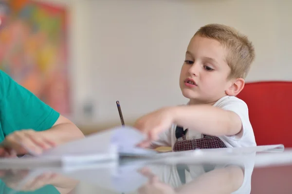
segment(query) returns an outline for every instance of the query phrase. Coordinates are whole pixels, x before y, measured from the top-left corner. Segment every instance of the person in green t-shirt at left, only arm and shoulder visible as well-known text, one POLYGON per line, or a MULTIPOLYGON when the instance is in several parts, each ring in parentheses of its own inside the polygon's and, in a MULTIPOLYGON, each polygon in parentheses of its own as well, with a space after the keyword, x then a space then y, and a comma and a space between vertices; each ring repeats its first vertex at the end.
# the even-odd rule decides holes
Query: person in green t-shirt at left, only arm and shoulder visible
POLYGON ((83 137, 69 119, 0 71, 0 157, 40 154, 83 137))

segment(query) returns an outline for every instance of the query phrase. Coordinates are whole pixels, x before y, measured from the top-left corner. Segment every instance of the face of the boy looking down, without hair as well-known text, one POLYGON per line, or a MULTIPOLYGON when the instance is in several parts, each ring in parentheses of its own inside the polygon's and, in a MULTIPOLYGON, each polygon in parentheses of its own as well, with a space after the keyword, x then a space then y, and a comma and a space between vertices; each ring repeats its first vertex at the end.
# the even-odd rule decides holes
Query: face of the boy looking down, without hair
POLYGON ((226 95, 232 84, 227 79, 231 69, 225 56, 219 41, 199 35, 191 39, 180 75, 183 96, 191 104, 212 104, 226 95))

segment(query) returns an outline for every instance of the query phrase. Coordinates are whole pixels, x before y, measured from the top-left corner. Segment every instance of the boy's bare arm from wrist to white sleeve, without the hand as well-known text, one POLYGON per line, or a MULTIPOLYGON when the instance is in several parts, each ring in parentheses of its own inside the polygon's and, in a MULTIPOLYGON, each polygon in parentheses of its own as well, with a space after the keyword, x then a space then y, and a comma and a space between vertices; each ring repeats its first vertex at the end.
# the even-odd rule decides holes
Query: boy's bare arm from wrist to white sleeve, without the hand
POLYGON ((236 135, 242 129, 237 113, 210 105, 173 107, 169 112, 174 123, 206 135, 236 135))

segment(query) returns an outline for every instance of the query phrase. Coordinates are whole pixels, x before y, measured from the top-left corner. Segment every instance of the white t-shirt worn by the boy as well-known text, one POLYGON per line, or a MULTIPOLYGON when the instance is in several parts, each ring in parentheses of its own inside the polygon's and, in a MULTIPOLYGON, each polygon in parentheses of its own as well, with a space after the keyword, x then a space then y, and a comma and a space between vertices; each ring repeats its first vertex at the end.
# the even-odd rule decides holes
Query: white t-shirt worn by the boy
MULTIPOLYGON (((226 147, 256 146, 255 134, 249 120, 248 108, 243 100, 237 97, 225 96, 220 98, 213 106, 237 113, 242 122, 241 137, 225 135, 219 136, 226 147)), ((156 148, 159 146, 171 146, 173 149, 173 146, 177 140, 175 137, 175 130, 176 125, 173 124, 169 130, 166 130, 159 135, 159 139, 157 141, 151 143, 151 147, 156 148)), ((193 129, 188 129, 185 136, 187 140, 200 139, 202 137, 203 135, 200 132, 193 129)))

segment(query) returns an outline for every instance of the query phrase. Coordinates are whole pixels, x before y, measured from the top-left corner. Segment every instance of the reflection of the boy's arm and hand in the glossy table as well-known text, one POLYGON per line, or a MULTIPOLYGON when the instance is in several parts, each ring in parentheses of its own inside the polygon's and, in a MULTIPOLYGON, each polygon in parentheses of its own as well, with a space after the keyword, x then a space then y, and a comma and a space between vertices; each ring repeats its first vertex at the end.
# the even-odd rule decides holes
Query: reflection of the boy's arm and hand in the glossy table
POLYGON ((139 188, 138 194, 231 194, 241 187, 244 179, 240 167, 227 166, 204 173, 179 188, 172 188, 147 168, 143 168, 140 173, 149 181, 139 188))

